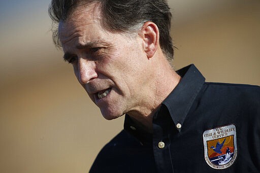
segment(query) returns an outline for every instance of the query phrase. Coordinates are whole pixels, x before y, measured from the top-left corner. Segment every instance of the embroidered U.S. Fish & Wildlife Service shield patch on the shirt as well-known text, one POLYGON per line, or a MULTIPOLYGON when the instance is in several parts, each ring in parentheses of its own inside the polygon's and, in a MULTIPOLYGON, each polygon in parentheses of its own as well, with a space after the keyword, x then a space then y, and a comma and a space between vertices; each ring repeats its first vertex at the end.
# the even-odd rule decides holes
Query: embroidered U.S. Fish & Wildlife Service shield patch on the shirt
POLYGON ((237 158, 237 136, 234 124, 216 127, 203 133, 204 155, 214 169, 230 167, 237 158))

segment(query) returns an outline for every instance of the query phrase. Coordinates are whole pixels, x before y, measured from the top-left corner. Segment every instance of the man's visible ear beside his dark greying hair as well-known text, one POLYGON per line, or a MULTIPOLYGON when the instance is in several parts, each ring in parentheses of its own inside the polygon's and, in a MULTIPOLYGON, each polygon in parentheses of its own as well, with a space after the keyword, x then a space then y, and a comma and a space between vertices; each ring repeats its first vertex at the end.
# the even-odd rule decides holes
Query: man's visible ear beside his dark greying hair
POLYGON ((143 41, 143 50, 148 58, 153 57, 159 45, 159 29, 153 22, 145 22, 139 33, 143 41))

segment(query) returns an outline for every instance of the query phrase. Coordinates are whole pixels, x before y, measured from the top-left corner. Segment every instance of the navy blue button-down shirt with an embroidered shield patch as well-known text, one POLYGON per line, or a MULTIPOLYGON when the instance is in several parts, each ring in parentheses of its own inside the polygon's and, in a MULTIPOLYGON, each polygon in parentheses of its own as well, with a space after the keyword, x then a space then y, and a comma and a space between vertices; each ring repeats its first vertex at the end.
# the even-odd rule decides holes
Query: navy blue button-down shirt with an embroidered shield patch
POLYGON ((90 172, 260 172, 260 87, 208 83, 194 65, 153 116, 153 133, 124 130, 90 172))

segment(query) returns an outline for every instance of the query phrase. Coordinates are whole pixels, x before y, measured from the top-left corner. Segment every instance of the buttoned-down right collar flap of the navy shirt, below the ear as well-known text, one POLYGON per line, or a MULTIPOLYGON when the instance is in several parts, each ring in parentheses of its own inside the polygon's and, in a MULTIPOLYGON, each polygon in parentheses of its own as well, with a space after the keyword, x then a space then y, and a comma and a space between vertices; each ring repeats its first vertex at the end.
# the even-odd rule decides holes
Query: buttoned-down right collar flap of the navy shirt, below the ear
MULTIPOLYGON (((193 101, 205 82, 205 78, 193 64, 181 68, 177 73, 182 77, 181 81, 162 102, 168 108, 175 126, 183 124, 193 101)), ((181 128, 177 129, 181 130, 181 128)))

